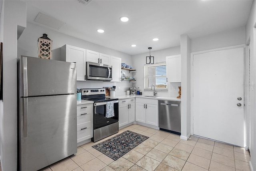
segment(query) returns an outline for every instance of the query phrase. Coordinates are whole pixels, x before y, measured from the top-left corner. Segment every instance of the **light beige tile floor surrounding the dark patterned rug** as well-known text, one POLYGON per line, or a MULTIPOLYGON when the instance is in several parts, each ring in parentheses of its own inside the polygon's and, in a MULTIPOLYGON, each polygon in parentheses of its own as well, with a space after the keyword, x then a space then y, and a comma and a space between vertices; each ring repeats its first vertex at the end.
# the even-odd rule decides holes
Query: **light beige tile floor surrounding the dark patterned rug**
POLYGON ((250 155, 244 148, 195 136, 185 141, 179 135, 137 124, 117 134, 81 145, 76 155, 41 171, 250 171, 250 155), (92 148, 126 130, 149 138, 116 161, 92 148))

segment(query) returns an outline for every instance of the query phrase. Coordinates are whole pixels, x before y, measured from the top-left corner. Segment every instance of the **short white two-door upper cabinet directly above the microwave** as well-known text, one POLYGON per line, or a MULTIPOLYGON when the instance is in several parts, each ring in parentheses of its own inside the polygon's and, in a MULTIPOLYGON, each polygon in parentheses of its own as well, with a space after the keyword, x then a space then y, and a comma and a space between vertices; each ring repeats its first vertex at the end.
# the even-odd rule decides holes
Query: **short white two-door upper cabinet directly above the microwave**
POLYGON ((86 61, 109 65, 110 55, 101 54, 92 50, 86 50, 86 61))

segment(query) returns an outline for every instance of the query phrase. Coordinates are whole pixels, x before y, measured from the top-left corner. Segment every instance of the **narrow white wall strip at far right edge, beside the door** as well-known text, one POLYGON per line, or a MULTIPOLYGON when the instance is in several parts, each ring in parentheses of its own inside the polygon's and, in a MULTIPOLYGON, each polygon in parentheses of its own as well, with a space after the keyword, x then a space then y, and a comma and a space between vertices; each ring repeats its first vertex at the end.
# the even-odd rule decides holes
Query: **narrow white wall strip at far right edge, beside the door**
MULTIPOLYGON (((256 2, 252 3, 250 16, 246 23, 246 43, 250 42, 250 55, 252 64, 251 81, 256 82, 256 2)), ((255 89, 255 85, 253 85, 255 89)), ((252 90, 251 95, 251 142, 250 142, 250 167, 252 171, 256 171, 256 91, 252 90)))

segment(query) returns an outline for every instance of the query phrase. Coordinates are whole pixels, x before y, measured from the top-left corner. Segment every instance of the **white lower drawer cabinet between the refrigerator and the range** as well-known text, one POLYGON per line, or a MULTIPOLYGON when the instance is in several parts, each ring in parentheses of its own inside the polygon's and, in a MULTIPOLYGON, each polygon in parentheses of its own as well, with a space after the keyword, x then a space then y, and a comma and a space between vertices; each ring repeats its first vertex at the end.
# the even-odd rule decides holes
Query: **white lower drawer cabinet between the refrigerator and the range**
POLYGON ((77 105, 77 143, 93 136, 93 104, 77 105))

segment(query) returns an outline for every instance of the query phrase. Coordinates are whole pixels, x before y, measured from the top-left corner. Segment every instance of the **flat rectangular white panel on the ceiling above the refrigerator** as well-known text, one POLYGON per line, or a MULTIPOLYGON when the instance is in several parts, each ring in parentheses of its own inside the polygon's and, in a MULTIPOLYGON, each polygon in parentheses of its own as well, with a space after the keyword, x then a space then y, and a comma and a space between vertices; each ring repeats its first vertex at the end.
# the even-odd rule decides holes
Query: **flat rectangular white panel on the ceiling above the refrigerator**
POLYGON ((66 23, 62 22, 56 18, 53 18, 52 16, 47 16, 43 14, 42 12, 39 12, 36 16, 34 22, 43 24, 45 26, 49 26, 51 28, 60 29, 62 26, 64 26, 66 23))

